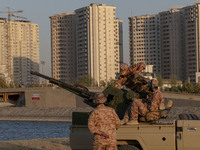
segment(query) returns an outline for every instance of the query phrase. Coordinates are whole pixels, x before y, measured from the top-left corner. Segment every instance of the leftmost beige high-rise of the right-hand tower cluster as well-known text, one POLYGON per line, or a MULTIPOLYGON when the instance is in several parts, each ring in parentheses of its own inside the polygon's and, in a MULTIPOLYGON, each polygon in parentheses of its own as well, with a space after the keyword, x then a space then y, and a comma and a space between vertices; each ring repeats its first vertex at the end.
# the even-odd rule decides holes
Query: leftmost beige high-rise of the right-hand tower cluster
POLYGON ((141 61, 161 73, 159 15, 129 17, 130 65, 141 61))

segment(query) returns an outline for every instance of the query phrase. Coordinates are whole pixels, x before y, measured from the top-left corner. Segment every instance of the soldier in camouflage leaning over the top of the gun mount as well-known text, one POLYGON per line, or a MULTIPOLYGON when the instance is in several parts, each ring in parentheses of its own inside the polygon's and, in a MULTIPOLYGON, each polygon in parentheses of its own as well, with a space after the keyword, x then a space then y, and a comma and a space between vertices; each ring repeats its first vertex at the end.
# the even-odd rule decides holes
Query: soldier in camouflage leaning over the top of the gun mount
POLYGON ((120 77, 116 82, 115 87, 121 89, 122 86, 125 85, 127 88, 135 89, 135 86, 137 84, 140 84, 140 81, 144 79, 144 77, 141 76, 141 71, 145 68, 145 62, 140 62, 138 64, 133 65, 132 67, 128 67, 128 64, 122 63, 120 65, 120 77))

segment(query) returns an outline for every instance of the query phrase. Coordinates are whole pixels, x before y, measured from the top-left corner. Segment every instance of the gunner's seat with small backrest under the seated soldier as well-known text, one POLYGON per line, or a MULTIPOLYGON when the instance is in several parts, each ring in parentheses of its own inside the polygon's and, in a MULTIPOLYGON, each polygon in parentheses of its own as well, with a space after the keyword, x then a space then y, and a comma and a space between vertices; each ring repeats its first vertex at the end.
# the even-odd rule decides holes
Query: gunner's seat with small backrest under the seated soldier
POLYGON ((173 106, 173 101, 169 100, 167 102, 166 107, 163 106, 163 105, 160 105, 158 111, 149 111, 145 116, 140 116, 139 117, 139 121, 140 122, 154 122, 154 121, 159 120, 161 118, 165 119, 165 118, 168 117, 169 112, 170 112, 172 106, 173 106), (152 112, 159 112, 158 117, 149 117, 149 114, 152 113, 152 112))

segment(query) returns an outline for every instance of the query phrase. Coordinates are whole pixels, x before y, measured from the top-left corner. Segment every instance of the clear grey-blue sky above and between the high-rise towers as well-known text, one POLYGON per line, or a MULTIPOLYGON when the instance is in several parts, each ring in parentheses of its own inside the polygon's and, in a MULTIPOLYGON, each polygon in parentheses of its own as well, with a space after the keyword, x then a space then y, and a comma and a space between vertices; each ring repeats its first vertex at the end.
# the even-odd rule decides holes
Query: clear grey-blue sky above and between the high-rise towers
MULTIPOLYGON (((49 16, 72 13, 74 10, 89 6, 91 3, 116 6, 116 17, 123 20, 124 62, 129 62, 128 17, 158 14, 172 7, 189 6, 195 0, 0 0, 0 12, 23 10, 18 16, 26 17, 39 24, 40 61, 45 61, 44 74, 51 75, 51 43, 49 16)), ((7 17, 0 13, 0 17, 7 17)))

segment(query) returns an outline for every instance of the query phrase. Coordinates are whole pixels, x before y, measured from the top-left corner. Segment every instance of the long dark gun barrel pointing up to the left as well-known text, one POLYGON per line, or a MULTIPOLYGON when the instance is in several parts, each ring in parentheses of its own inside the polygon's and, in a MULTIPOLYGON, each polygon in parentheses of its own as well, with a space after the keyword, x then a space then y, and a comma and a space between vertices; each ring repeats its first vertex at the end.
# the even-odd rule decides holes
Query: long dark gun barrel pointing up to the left
POLYGON ((83 89, 77 88, 77 87, 75 87, 73 85, 70 85, 68 83, 62 82, 60 80, 57 80, 57 79, 54 79, 54 78, 51 78, 51 77, 48 77, 48 76, 43 75, 43 74, 41 74, 39 72, 31 71, 30 73, 33 74, 33 75, 39 76, 41 78, 47 79, 47 80, 49 80, 50 83, 58 85, 59 87, 64 88, 65 90, 67 90, 67 91, 69 91, 71 93, 74 93, 74 94, 76 94, 78 96, 81 96, 81 97, 83 97, 85 99, 88 99, 88 100, 89 99, 94 99, 94 97, 96 95, 96 93, 94 93, 94 92, 89 92, 88 90, 83 90, 83 89))

